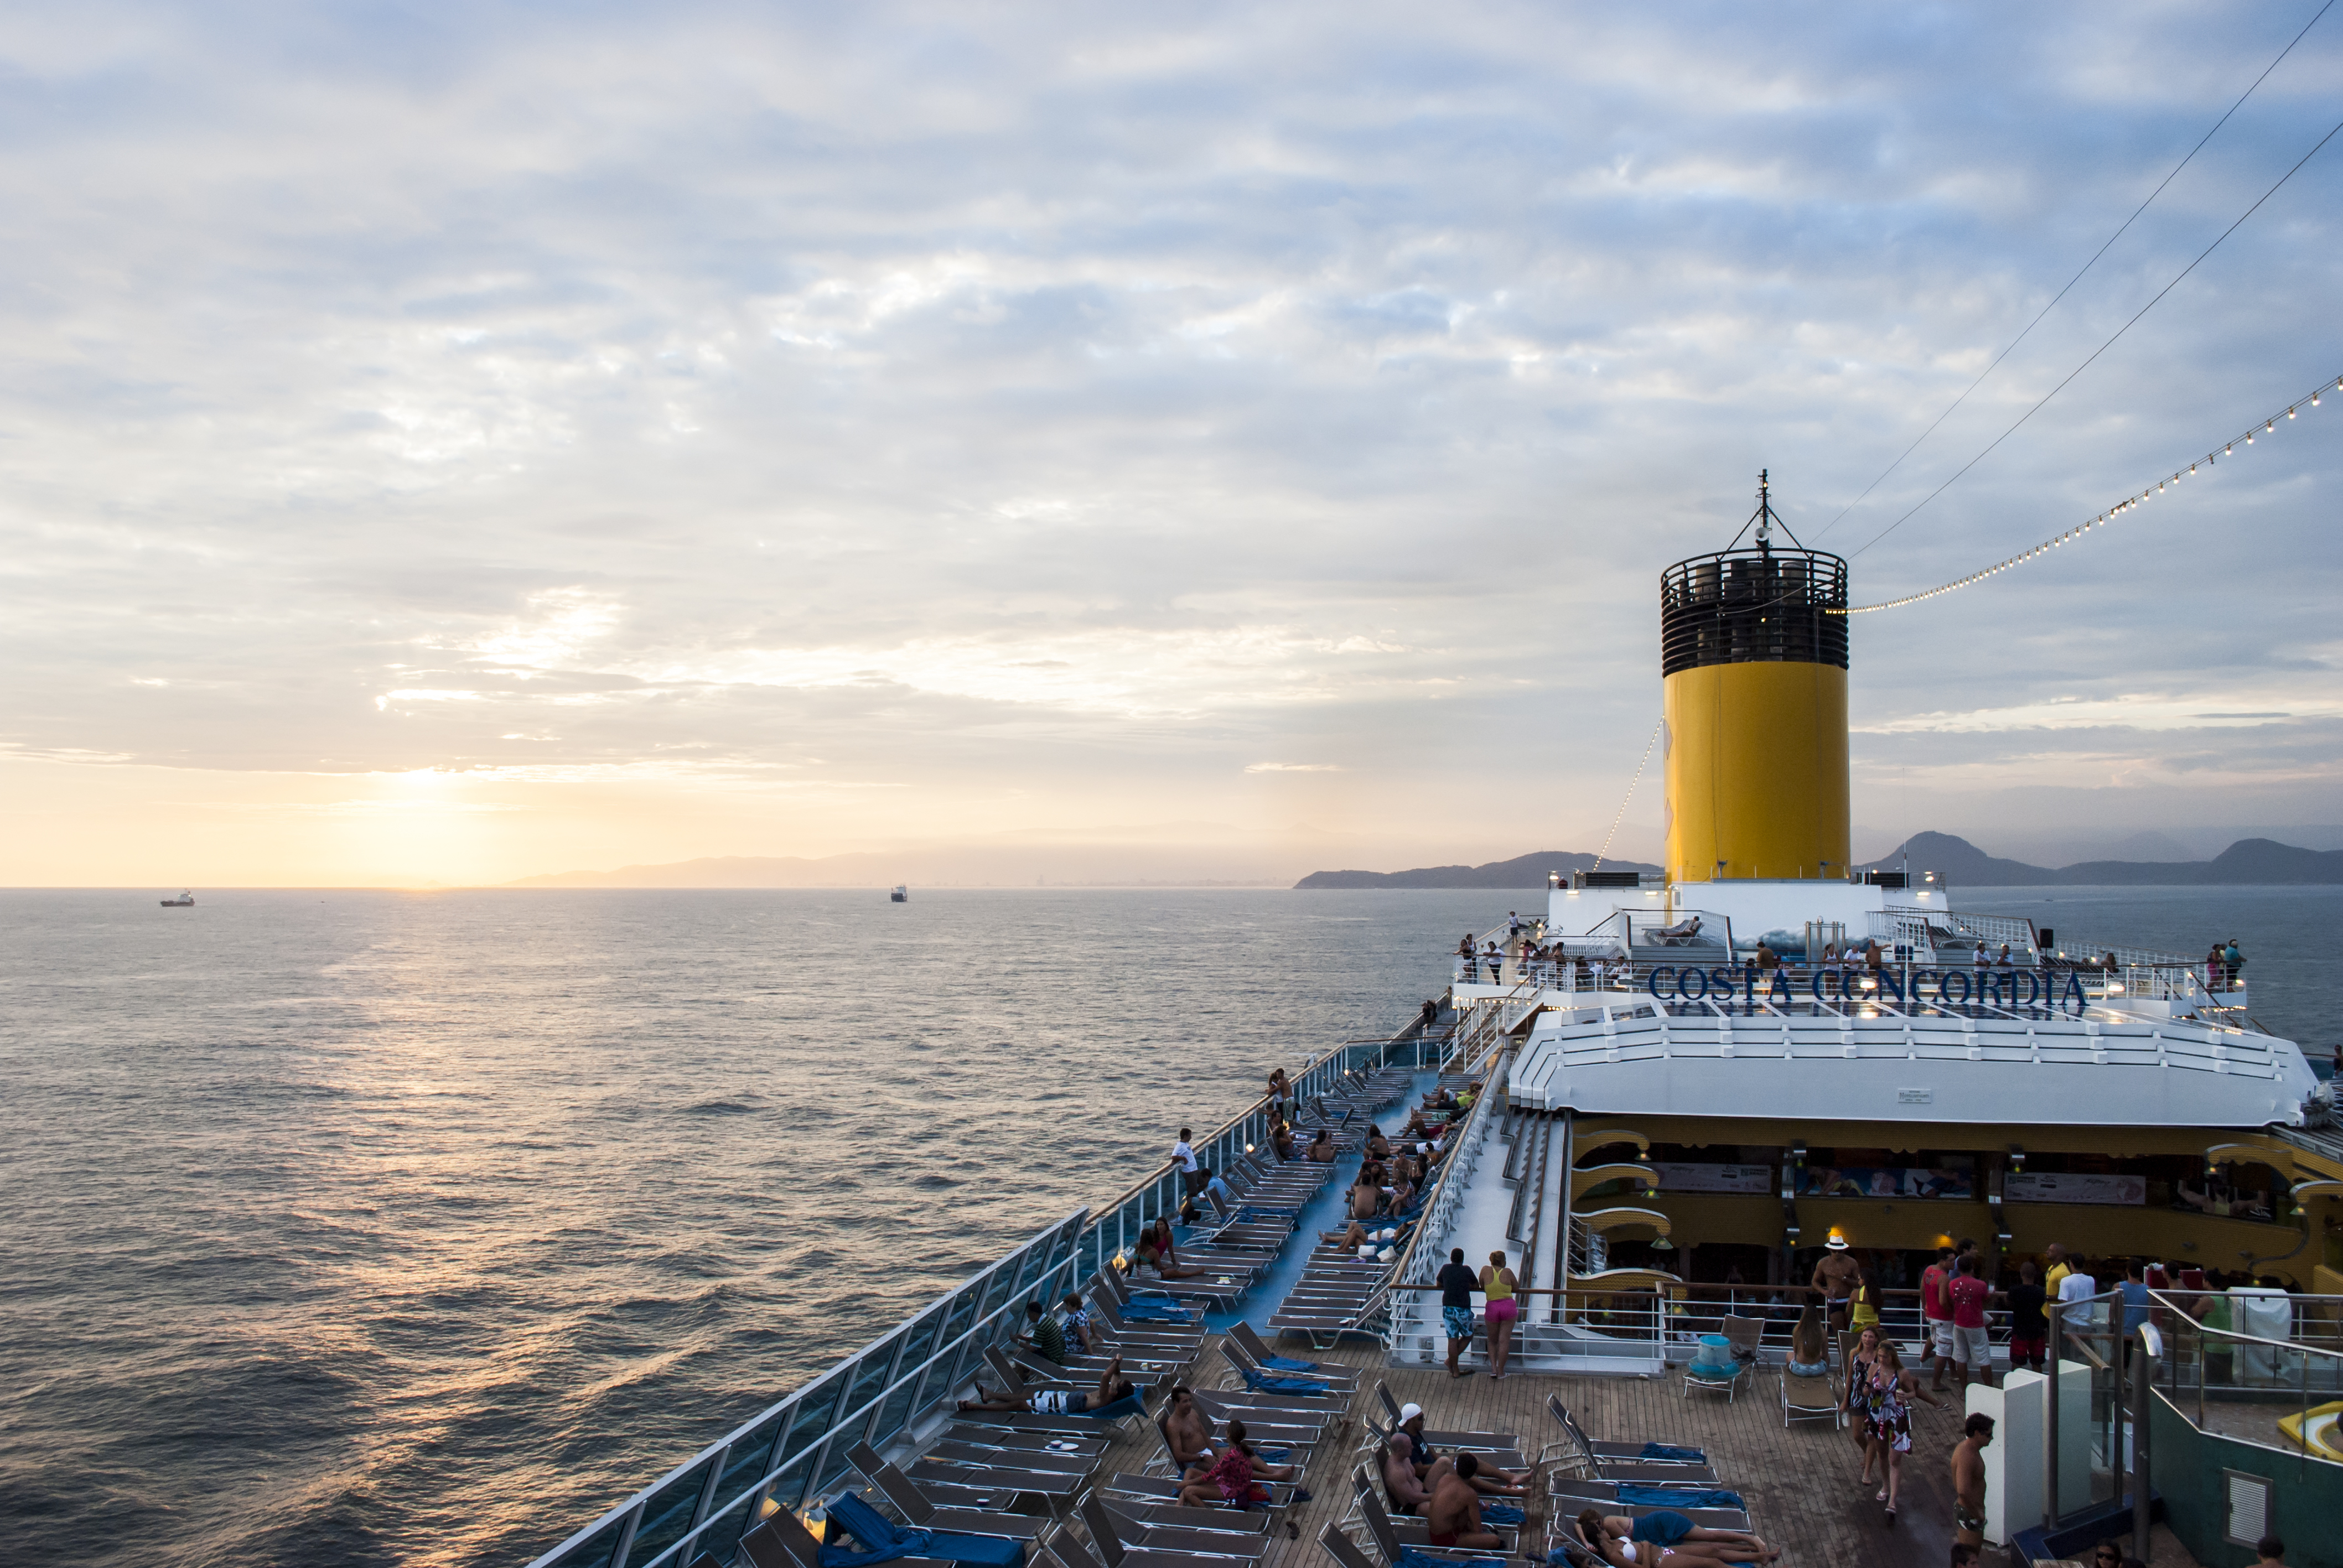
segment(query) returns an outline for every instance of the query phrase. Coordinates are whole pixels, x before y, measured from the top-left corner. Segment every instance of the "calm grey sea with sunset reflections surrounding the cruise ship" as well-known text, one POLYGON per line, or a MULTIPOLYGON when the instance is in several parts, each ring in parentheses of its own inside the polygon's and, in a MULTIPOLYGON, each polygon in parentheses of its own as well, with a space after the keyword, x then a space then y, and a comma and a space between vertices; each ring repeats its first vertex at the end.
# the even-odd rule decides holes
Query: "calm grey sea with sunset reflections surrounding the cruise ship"
MULTIPOLYGON (((1535 898, 0 893, 0 1561, 527 1561, 1535 898)), ((2336 1038, 2338 891, 1961 902, 2336 1038)))

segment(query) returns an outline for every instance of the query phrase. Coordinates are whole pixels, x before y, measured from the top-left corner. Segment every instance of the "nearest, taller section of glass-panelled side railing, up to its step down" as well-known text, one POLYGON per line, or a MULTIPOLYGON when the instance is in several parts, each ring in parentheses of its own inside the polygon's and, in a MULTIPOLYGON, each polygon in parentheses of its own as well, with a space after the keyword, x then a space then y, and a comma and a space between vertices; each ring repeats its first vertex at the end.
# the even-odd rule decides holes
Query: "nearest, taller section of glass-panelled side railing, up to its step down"
POLYGON ((834 1486, 846 1451, 921 1423, 975 1376, 984 1350, 1024 1324, 1029 1296, 1064 1294, 1080 1266, 1085 1209, 937 1296, 911 1320, 733 1427, 663 1479, 539 1556, 532 1568, 672 1568, 729 1561, 766 1505, 797 1509, 834 1486))

